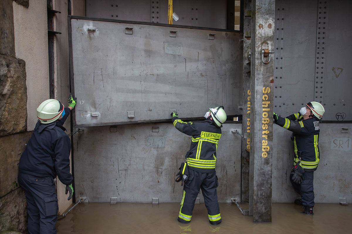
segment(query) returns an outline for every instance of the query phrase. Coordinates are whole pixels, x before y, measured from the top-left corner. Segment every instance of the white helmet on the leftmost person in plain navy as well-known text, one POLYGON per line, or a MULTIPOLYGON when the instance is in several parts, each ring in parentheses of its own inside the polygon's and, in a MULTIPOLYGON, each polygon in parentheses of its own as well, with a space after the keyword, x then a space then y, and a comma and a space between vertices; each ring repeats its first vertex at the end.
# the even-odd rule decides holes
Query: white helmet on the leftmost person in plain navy
POLYGON ((64 105, 56 99, 48 99, 40 103, 37 117, 42 123, 51 123, 60 118, 64 105))

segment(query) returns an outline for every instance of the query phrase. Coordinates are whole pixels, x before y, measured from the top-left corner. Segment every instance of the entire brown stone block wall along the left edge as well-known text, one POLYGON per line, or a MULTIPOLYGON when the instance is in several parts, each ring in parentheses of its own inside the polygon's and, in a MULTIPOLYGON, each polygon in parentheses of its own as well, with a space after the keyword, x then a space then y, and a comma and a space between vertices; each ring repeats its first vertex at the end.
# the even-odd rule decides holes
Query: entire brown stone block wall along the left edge
POLYGON ((1 0, 0 29, 0 232, 27 233, 27 202, 17 175, 32 132, 26 132, 26 65, 15 58, 12 0, 1 0))

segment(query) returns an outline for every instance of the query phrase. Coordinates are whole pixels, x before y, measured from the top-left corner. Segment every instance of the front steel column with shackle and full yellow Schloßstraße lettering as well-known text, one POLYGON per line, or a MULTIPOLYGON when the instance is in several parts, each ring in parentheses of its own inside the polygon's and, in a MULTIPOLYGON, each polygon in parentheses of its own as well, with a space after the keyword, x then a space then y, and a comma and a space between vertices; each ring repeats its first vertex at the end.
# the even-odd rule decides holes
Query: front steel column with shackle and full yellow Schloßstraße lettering
POLYGON ((274 18, 275 0, 252 0, 250 215, 253 214, 253 222, 271 222, 274 56, 270 53, 275 49, 274 18))

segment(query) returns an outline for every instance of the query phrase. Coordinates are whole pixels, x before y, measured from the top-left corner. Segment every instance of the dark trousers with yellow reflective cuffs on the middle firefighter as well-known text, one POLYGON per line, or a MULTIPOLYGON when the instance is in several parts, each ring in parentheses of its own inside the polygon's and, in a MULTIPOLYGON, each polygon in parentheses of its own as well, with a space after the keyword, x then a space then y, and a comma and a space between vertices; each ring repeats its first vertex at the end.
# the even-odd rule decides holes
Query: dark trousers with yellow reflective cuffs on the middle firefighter
POLYGON ((196 172, 188 167, 188 180, 183 185, 183 196, 181 200, 181 209, 178 214, 178 221, 189 223, 192 218, 194 202, 202 189, 204 203, 208 210, 209 222, 217 224, 221 222, 220 209, 218 203, 218 178, 216 172, 201 173, 196 172))

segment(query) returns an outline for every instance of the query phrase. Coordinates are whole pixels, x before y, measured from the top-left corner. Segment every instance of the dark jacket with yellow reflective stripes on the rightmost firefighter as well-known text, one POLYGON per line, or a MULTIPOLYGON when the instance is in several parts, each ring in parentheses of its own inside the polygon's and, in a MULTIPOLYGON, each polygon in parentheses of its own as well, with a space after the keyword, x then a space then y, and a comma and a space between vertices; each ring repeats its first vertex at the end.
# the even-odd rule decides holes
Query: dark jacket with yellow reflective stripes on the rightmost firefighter
POLYGON ((303 120, 302 115, 297 113, 286 118, 278 117, 276 124, 294 133, 292 139, 295 148, 294 165, 301 158, 304 171, 315 171, 320 160, 319 120, 315 117, 303 120))

